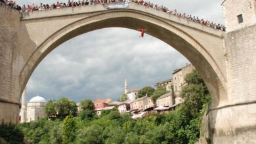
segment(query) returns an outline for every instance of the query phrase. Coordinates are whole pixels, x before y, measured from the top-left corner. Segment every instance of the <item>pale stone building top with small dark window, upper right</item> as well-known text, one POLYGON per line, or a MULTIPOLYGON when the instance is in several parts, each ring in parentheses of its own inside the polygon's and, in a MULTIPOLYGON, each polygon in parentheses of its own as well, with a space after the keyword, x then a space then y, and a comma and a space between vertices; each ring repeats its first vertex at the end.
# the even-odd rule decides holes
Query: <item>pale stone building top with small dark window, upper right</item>
POLYGON ((255 24, 255 0, 226 0, 223 3, 224 20, 227 31, 235 31, 255 24), (238 15, 242 14, 244 22, 238 24, 238 15))

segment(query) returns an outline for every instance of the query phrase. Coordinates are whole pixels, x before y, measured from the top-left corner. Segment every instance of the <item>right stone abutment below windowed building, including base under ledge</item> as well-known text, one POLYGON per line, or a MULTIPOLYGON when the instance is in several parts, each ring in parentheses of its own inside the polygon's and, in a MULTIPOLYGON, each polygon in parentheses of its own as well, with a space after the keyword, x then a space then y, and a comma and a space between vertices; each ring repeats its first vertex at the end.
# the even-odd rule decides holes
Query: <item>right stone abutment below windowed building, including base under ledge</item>
POLYGON ((228 104, 209 107, 200 143, 256 143, 256 25, 226 33, 228 104), (204 140, 204 142, 203 142, 204 140))

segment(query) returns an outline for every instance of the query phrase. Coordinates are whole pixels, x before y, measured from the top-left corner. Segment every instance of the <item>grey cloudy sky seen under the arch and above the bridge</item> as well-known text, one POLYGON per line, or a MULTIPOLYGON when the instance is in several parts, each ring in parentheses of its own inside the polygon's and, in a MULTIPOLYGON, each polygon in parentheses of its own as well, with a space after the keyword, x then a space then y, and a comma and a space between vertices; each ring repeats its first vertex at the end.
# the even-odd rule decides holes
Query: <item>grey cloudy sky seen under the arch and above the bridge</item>
MULTIPOLYGON (((55 3, 54 0, 16 0, 19 5, 55 3)), ((66 2, 66 1, 63 1, 66 2)), ((223 24, 223 0, 152 0, 205 20, 223 24)), ((129 89, 154 86, 172 77, 174 69, 189 63, 163 41, 124 28, 107 28, 79 35, 53 50, 35 69, 27 84, 33 96, 74 101, 95 98, 116 100, 129 89), (95 39, 96 38, 96 39, 95 39)))

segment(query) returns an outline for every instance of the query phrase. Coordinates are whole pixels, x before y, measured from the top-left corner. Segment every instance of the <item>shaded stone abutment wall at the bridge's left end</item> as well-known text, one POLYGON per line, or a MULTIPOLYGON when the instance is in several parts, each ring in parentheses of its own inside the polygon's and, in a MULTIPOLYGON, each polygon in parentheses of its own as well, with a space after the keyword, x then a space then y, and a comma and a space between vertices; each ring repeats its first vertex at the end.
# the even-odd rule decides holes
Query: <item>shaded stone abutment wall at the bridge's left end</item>
POLYGON ((20 12, 0 2, 0 120, 18 122, 20 12))

